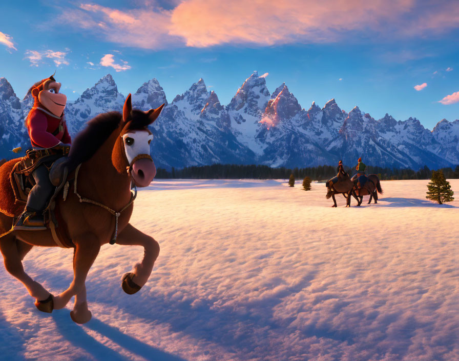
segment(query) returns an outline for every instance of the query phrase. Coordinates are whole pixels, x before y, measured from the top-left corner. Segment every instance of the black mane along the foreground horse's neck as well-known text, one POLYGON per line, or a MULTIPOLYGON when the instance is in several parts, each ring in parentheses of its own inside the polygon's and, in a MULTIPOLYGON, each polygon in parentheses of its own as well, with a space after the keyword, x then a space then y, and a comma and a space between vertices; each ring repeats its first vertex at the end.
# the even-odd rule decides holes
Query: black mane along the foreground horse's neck
POLYGON ((75 169, 78 164, 88 161, 110 137, 121 123, 122 115, 119 112, 102 113, 92 118, 85 129, 73 139, 70 148, 68 166, 75 169))

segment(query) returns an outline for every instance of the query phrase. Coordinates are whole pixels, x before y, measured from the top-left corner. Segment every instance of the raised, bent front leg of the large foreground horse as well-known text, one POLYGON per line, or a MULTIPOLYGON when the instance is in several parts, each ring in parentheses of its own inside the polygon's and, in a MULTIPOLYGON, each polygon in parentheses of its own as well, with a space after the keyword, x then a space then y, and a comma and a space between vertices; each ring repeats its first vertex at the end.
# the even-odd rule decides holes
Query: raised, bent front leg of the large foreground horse
POLYGON ((153 265, 159 255, 159 244, 153 237, 140 232, 131 224, 128 224, 118 235, 116 243, 126 246, 142 246, 144 249, 142 261, 134 266, 132 273, 124 275, 122 282, 124 292, 136 293, 147 283, 152 273, 153 265))

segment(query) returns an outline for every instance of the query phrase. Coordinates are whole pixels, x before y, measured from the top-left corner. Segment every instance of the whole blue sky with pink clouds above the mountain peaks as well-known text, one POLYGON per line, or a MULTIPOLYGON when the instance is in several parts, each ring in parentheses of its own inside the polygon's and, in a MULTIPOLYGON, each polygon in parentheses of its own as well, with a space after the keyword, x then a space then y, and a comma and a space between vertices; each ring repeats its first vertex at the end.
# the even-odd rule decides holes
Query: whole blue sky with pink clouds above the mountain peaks
POLYGON ((458 119, 459 2, 370 3, 2 2, 0 77, 22 98, 57 69, 69 100, 107 73, 124 95, 156 77, 170 102, 202 77, 228 104, 257 70, 306 109, 334 97, 429 129, 458 119))

